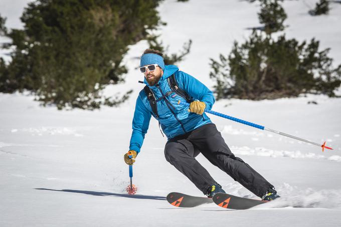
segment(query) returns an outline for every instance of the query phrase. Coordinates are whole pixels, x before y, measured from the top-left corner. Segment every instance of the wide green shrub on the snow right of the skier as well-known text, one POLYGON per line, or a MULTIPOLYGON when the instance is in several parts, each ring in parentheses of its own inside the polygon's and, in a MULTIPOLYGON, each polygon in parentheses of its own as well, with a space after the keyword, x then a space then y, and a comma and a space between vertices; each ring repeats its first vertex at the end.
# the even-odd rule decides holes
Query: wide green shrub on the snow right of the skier
POLYGON ((335 96, 341 84, 341 65, 332 68, 329 49, 319 42, 299 44, 285 36, 277 41, 253 32, 244 44, 234 43, 228 58, 211 59, 217 99, 274 99, 301 93, 335 96))

